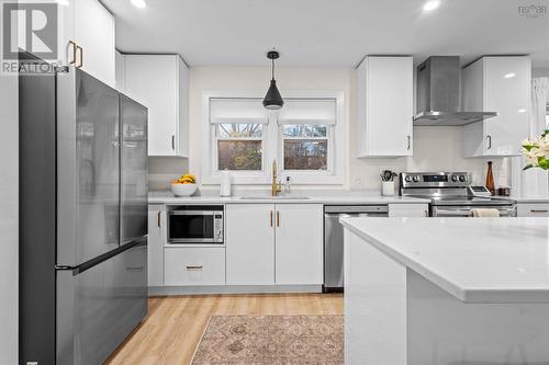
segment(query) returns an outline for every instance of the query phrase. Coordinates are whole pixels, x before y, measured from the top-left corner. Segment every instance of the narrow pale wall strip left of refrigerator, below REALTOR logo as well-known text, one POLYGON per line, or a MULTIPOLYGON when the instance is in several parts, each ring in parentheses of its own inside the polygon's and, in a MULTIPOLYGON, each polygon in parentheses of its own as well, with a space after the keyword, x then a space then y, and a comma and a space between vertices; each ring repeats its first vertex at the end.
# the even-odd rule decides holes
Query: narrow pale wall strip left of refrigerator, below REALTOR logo
POLYGON ((0 364, 18 363, 18 79, 0 75, 0 364))

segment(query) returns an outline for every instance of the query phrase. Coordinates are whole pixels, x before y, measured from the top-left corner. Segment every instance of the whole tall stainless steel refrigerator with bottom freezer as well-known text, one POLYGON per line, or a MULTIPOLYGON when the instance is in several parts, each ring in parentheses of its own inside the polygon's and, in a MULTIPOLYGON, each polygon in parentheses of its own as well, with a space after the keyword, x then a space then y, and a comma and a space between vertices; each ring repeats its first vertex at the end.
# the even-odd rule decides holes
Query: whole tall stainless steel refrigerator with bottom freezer
POLYGON ((20 363, 101 364, 146 313, 147 109, 20 75, 20 363))

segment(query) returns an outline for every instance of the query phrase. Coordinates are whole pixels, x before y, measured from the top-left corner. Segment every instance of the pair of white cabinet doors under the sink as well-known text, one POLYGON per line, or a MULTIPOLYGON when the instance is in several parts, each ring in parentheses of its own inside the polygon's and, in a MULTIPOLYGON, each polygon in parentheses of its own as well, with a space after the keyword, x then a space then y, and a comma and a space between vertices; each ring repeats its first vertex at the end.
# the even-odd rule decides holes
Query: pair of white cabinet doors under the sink
POLYGON ((227 205, 227 285, 322 284, 322 204, 227 205))

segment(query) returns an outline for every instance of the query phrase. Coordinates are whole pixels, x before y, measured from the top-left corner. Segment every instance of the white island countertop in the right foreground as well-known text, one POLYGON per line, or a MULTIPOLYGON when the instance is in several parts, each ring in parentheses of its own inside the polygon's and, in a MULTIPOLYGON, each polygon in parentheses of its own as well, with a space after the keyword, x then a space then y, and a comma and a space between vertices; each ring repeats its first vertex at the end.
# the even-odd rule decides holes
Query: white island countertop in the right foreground
POLYGON ((549 303, 549 218, 341 223, 464 303, 549 303))

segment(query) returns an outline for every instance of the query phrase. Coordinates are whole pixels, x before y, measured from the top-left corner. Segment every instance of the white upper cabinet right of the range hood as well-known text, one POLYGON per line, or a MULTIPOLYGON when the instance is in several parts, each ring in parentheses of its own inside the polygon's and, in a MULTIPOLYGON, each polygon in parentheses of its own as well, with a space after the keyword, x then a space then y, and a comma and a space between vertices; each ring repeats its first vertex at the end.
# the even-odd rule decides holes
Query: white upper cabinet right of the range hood
POLYGON ((463 127, 463 157, 520 155, 528 137, 531 65, 526 56, 482 57, 463 69, 463 110, 497 116, 463 127))

